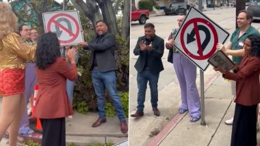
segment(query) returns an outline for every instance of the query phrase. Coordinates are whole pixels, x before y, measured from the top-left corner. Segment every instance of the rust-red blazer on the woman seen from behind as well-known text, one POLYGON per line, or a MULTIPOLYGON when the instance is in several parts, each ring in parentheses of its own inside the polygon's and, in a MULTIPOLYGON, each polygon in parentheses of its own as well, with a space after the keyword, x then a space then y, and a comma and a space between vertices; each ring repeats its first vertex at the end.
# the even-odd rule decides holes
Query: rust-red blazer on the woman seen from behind
POLYGON ((36 99, 35 116, 42 119, 54 119, 73 115, 73 108, 66 93, 66 79, 77 79, 77 67, 68 64, 63 57, 46 69, 36 67, 39 91, 36 99))

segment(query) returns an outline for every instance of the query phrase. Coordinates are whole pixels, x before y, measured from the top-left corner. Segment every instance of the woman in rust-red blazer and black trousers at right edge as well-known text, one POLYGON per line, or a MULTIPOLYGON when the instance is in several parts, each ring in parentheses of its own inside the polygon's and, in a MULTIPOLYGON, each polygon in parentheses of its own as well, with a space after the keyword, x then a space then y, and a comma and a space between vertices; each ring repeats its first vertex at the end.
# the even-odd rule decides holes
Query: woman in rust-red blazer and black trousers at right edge
POLYGON ((224 78, 237 81, 235 115, 233 120, 231 146, 257 145, 257 104, 260 102, 260 37, 248 35, 244 42, 244 57, 234 73, 224 68, 220 71, 224 78))

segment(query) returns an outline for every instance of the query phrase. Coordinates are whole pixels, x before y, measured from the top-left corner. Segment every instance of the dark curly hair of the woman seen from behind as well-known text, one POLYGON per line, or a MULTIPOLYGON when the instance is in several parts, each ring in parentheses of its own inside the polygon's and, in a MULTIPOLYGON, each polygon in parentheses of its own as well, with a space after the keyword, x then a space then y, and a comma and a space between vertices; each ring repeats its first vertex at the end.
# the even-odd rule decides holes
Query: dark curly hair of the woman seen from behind
POLYGON ((40 36, 36 49, 36 66, 44 70, 60 57, 60 43, 55 33, 44 33, 40 36))

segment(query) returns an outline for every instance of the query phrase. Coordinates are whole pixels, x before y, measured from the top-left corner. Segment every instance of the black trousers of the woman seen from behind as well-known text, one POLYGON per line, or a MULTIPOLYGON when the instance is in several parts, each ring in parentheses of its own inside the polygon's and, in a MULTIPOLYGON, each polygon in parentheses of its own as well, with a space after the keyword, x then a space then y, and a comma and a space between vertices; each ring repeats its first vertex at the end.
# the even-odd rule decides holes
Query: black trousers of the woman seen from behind
POLYGON ((66 146, 65 117, 40 119, 42 146, 66 146))

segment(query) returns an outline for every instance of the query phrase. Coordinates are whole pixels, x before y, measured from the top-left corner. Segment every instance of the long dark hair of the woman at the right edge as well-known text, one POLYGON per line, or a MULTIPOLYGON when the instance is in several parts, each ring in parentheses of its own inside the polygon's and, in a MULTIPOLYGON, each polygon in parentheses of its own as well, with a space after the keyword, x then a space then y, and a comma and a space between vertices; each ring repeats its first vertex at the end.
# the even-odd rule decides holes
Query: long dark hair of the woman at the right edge
POLYGON ((251 41, 251 56, 260 57, 260 36, 248 35, 247 38, 251 41))

